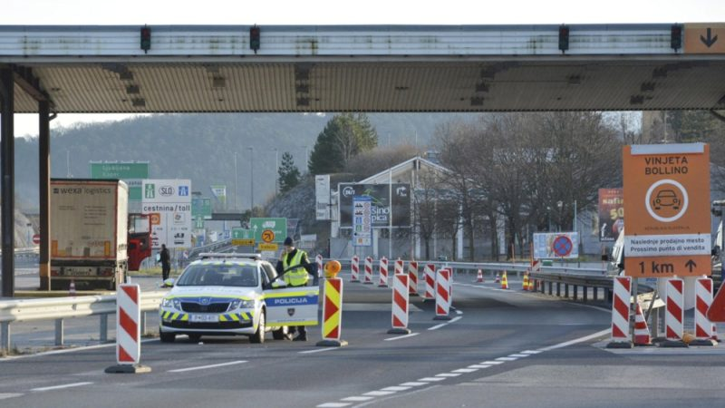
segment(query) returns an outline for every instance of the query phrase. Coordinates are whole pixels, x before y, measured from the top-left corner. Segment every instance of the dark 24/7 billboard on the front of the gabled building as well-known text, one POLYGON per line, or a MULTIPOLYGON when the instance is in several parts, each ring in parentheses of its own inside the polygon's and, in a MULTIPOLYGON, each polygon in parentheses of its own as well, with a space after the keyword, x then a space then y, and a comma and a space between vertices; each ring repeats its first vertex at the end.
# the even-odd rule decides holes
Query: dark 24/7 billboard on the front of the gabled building
POLYGON ((410 184, 340 183, 337 190, 340 193, 340 228, 353 228, 353 197, 370 197, 372 228, 388 228, 391 219, 393 227, 411 227, 410 184))

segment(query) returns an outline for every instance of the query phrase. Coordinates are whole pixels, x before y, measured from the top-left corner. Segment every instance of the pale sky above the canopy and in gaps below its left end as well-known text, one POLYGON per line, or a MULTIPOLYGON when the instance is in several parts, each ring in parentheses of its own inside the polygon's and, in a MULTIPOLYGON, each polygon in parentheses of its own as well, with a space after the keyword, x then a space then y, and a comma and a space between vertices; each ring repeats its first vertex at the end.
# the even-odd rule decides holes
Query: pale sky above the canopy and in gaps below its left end
MULTIPOLYGON (((2 0, 0 25, 625 24, 725 22, 725 0, 2 0)), ((51 129, 129 115, 60 114, 51 129)), ((15 136, 37 135, 16 114, 15 136)))

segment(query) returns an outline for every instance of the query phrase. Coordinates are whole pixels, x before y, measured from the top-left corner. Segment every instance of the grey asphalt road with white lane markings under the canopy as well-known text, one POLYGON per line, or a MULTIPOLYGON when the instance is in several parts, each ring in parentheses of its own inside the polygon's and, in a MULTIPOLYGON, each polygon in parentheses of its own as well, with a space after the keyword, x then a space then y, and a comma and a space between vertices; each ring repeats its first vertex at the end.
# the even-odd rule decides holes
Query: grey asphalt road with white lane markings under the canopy
POLYGON ((339 348, 314 345, 318 326, 306 343, 148 339, 150 374, 104 374, 112 345, 0 359, 0 405, 711 407, 725 398, 720 346, 613 352, 603 348, 606 307, 462 278, 453 296, 453 320, 433 320, 432 303, 414 297, 412 334, 388 335, 390 289, 346 282, 349 345, 339 348))

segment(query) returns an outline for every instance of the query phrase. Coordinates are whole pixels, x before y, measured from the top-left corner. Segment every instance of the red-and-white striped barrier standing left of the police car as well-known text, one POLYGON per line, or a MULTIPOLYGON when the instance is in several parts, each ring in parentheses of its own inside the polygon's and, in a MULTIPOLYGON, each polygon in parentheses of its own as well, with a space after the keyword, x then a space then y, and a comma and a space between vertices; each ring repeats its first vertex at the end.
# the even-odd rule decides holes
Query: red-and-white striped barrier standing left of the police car
POLYGON ((139 285, 121 284, 116 292, 116 361, 106 373, 149 373, 151 368, 139 364, 141 356, 141 289, 139 285))

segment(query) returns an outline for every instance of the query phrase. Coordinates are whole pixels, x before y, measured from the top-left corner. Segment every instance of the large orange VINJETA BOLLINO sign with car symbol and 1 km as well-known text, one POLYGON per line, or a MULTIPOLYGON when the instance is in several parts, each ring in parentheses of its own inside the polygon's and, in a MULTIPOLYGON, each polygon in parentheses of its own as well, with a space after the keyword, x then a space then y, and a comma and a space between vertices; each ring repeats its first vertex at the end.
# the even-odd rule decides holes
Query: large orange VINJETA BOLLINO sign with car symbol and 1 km
POLYGON ((624 273, 710 275, 710 147, 623 148, 624 273))

